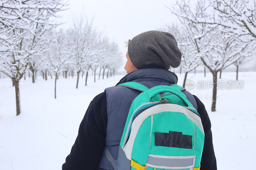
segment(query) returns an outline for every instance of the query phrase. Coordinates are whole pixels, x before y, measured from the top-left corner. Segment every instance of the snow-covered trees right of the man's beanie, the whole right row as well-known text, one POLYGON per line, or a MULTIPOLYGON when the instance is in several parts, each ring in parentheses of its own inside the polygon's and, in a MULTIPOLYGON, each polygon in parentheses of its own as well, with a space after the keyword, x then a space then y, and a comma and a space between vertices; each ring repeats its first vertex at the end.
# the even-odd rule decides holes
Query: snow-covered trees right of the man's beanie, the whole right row
MULTIPOLYGON (((238 67, 255 55, 256 4, 254 0, 177 0, 169 8, 181 27, 165 28, 176 37, 182 52, 181 68, 186 76, 198 65, 213 76, 212 111, 216 110, 217 73, 234 64, 238 67)), ((237 78, 236 78, 237 79, 237 78)))

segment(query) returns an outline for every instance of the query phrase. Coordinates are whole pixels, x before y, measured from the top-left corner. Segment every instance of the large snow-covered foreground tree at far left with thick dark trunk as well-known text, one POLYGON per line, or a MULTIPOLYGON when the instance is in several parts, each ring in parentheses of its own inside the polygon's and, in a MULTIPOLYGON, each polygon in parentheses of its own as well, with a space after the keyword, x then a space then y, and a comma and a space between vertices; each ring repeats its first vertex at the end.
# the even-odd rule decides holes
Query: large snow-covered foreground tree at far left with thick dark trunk
MULTIPOLYGON (((56 23, 62 0, 4 0, 0 2, 0 70, 12 78, 16 92, 16 115, 20 114, 19 81, 32 57, 41 51, 36 39, 56 23), (34 38, 31 38, 34 37, 34 38)), ((39 41, 38 41, 39 42, 39 41)))

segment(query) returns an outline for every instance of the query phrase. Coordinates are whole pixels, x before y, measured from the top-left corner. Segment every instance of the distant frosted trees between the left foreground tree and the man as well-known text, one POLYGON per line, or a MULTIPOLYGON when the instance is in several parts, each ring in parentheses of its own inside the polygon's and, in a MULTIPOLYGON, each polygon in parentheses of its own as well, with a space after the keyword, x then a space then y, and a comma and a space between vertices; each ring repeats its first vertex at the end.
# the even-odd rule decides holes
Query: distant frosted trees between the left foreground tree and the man
POLYGON ((92 21, 81 16, 73 20, 73 25, 68 30, 51 31, 47 33, 45 44, 47 50, 43 55, 35 57, 30 63, 29 71, 32 73, 32 82, 35 82, 35 71, 41 70, 44 75, 47 72, 55 76, 54 96, 56 98, 56 82, 60 73, 72 75, 76 72, 76 88, 80 75, 85 74, 85 85, 89 70, 93 71, 94 82, 96 70, 116 72, 122 63, 121 53, 115 42, 109 41, 108 37, 92 28, 92 21), (32 66, 33 65, 33 66, 32 66))

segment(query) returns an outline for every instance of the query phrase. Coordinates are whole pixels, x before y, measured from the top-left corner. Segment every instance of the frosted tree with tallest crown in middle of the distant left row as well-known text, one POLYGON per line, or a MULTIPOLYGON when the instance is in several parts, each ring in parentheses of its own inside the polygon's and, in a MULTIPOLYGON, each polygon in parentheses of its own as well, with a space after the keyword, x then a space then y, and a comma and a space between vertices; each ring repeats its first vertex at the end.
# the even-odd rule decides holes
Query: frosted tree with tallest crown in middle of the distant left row
POLYGON ((98 67, 98 65, 95 66, 94 64, 96 63, 96 56, 100 53, 100 33, 96 32, 92 27, 92 23, 93 19, 88 21, 84 15, 81 15, 80 18, 73 18, 73 25, 68 30, 68 41, 71 44, 70 50, 72 51, 73 59, 72 63, 77 72, 76 88, 78 88, 80 72, 83 72, 89 65, 94 70, 98 67))

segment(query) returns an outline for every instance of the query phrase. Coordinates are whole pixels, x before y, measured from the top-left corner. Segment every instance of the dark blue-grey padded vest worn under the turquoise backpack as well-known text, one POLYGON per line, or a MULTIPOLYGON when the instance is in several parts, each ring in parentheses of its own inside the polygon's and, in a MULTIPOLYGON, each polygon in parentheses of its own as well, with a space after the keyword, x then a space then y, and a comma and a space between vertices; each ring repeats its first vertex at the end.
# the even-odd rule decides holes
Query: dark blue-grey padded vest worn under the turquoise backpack
MULTIPOLYGON (((165 69, 140 69, 125 75, 116 85, 135 81, 149 88, 156 85, 177 84, 178 77, 175 73, 165 69)), ((120 140, 124 125, 129 113, 132 101, 140 94, 140 91, 123 87, 113 86, 105 89, 107 93, 107 117, 106 145, 114 159, 117 159, 120 140)), ((182 90, 190 103, 196 108, 194 96, 186 90, 182 90)), ((103 151, 98 170, 114 170, 112 164, 103 151)))

